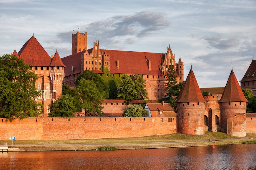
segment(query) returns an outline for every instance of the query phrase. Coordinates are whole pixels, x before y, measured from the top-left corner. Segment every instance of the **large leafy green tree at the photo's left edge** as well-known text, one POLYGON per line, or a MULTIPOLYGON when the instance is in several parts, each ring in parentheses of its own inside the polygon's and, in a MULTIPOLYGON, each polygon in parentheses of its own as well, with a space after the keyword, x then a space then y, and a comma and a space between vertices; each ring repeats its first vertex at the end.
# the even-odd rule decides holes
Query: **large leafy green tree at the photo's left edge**
POLYGON ((23 59, 9 54, 0 57, 0 116, 12 121, 41 113, 42 104, 34 101, 40 96, 36 80, 37 75, 23 59))

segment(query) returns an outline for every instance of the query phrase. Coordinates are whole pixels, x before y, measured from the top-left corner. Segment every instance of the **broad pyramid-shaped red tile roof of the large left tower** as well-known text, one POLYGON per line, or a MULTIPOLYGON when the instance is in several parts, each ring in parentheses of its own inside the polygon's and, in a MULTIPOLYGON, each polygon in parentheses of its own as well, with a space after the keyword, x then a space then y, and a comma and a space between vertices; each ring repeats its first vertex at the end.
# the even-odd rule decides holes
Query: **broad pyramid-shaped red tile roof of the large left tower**
POLYGON ((33 36, 23 45, 18 55, 32 66, 49 66, 51 57, 33 36))

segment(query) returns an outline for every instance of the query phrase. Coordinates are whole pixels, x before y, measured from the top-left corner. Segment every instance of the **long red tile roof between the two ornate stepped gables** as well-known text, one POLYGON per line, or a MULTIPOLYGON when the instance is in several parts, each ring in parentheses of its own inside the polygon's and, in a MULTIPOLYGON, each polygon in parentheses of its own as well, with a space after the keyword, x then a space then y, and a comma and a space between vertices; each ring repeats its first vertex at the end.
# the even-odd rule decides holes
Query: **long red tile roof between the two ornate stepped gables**
POLYGON ((111 73, 162 75, 160 66, 165 54, 119 50, 101 50, 101 54, 110 56, 111 73), (147 59, 151 62, 151 70, 147 59), (117 69, 117 60, 119 60, 119 69, 117 69))

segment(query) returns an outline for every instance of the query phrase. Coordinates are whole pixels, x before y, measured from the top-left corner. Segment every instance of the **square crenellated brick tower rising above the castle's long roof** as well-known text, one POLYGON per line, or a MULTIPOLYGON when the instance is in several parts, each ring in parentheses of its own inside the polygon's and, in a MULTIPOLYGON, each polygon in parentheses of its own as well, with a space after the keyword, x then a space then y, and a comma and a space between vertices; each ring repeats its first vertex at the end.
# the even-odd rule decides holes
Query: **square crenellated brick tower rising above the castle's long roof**
POLYGON ((79 53, 87 49, 87 32, 72 34, 72 54, 79 53))

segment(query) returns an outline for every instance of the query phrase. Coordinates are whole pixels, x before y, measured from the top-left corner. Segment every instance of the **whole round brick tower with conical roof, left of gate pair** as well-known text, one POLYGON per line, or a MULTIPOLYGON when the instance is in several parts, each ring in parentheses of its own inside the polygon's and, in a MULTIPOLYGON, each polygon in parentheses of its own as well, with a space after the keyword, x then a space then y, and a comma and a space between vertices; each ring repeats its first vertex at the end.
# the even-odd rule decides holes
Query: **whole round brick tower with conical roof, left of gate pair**
POLYGON ((204 103, 206 101, 191 69, 176 100, 178 132, 192 135, 204 134, 204 103))

